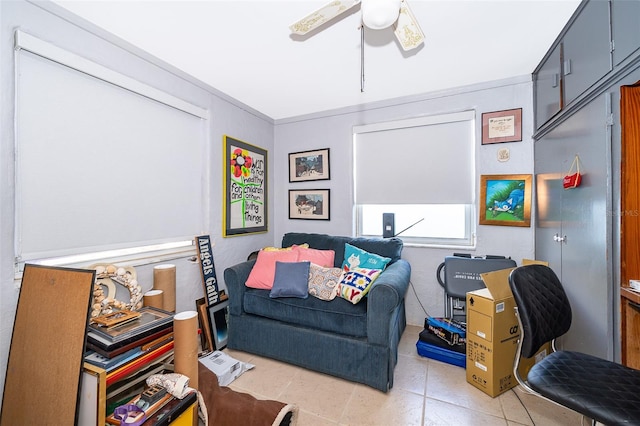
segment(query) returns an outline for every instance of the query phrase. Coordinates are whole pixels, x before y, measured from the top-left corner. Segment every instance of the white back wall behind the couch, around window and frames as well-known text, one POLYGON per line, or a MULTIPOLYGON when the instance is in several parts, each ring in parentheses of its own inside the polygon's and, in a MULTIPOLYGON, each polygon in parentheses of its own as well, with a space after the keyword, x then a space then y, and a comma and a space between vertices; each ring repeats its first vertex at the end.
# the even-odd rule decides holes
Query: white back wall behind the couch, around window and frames
MULTIPOLYGON (((353 90, 359 90, 353 87, 353 90)), ((275 170, 276 182, 274 198, 278 200, 272 223, 276 241, 286 232, 319 232, 337 235, 353 235, 353 143, 352 127, 383 121, 399 120, 423 115, 473 109, 476 111, 476 174, 479 198, 481 174, 530 174, 533 173, 533 113, 532 83, 530 76, 491 82, 456 90, 428 94, 345 109, 324 114, 279 120, 276 122, 275 170), (512 108, 523 109, 522 142, 484 145, 481 141, 482 113, 512 108), (330 148, 331 180, 304 183, 289 183, 288 153, 330 148), (497 151, 509 148, 508 162, 497 160, 497 151), (331 220, 290 220, 287 213, 289 189, 329 188, 331 189, 331 220)), ((392 171, 387 171, 392 173, 392 171)), ((385 171, 381 171, 385 173, 385 171)), ((443 182, 445 184, 445 182, 443 182)), ((533 209, 532 209, 533 210, 533 209)), ((533 215, 533 212, 532 212, 533 215)), ((476 220, 477 223, 477 220, 476 220)), ((533 222, 532 222, 533 224, 533 222)), ((403 257, 411 263, 411 281, 419 301, 429 315, 444 313, 442 287, 436 280, 436 269, 444 256, 461 249, 434 249, 405 247, 403 257)), ((511 256, 520 263, 523 258, 534 258, 534 228, 505 226, 478 226, 477 248, 474 255, 511 256)), ((418 303, 413 290, 407 295, 407 320, 410 324, 424 324, 426 313, 418 303)))

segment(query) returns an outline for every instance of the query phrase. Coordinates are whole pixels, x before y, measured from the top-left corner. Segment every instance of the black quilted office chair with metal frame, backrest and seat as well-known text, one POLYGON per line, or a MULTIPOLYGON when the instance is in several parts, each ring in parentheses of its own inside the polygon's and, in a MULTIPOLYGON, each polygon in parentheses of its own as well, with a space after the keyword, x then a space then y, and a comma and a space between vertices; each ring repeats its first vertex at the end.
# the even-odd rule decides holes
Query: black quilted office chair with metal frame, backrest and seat
POLYGON ((571 305, 560 280, 544 265, 514 269, 509 285, 516 302, 520 340, 514 375, 529 393, 605 425, 640 425, 640 370, 580 352, 557 351, 555 339, 571 326, 571 305), (546 342, 552 352, 526 378, 520 356, 531 357, 546 342))

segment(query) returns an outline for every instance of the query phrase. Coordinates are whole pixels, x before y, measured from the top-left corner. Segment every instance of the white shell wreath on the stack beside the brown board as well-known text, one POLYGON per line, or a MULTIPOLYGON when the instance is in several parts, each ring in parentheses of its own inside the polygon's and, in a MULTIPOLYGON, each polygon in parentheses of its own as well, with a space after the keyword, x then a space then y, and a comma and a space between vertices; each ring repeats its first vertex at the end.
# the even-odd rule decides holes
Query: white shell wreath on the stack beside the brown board
POLYGON ((142 307, 142 288, 138 284, 135 269, 110 264, 92 265, 91 269, 96 271, 91 318, 110 314, 114 309, 135 311, 142 307), (116 283, 129 290, 129 303, 116 299, 116 283), (103 286, 108 289, 107 295, 103 286))

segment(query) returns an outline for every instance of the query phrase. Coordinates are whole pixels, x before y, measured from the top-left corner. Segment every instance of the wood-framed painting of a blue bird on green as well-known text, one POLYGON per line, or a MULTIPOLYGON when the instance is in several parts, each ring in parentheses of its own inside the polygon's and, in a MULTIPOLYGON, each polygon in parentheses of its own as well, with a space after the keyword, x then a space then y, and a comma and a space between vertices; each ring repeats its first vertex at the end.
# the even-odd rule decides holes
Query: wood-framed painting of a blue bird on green
POLYGON ((531 225, 531 175, 480 176, 480 225, 531 225))

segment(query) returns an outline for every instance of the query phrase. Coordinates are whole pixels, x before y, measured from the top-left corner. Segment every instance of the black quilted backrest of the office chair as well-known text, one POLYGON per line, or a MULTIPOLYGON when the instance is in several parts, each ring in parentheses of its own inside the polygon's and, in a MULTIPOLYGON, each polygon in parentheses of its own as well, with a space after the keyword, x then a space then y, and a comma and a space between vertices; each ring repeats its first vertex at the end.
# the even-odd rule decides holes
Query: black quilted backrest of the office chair
POLYGON ((525 265, 511 271, 509 286, 522 323, 521 355, 530 358, 540 347, 571 327, 571 305, 560 280, 545 265, 525 265))

